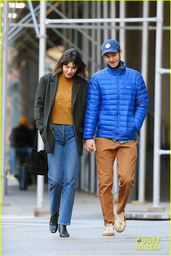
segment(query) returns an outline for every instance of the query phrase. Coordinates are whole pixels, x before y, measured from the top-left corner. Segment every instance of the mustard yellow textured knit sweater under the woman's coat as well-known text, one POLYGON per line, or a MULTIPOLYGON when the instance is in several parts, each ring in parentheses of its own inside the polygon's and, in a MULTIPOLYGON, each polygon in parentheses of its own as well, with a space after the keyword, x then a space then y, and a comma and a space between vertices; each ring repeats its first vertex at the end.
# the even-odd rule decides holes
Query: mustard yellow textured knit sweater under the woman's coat
POLYGON ((73 78, 67 78, 60 74, 52 107, 53 124, 73 124, 71 106, 72 86, 73 78))

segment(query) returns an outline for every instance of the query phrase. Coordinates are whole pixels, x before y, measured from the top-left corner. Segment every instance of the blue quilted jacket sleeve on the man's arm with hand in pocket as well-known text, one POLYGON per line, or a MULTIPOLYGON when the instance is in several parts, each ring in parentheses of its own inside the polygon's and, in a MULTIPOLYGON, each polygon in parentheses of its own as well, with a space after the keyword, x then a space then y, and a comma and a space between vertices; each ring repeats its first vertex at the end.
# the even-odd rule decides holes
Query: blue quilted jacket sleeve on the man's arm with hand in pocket
POLYGON ((134 120, 135 120, 137 131, 141 129, 141 126, 147 114, 147 108, 148 108, 148 93, 146 90, 144 79, 140 74, 138 84, 137 84, 137 89, 136 89, 135 111, 134 111, 134 120))

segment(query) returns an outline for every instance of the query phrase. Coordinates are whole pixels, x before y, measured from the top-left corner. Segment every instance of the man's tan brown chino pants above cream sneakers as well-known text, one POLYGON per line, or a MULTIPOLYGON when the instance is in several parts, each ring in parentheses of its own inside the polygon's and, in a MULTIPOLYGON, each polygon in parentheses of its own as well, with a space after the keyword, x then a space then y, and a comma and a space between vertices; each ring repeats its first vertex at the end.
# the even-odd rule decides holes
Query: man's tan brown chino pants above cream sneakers
POLYGON ((96 137, 96 162, 98 173, 99 197, 105 226, 114 225, 113 195, 113 164, 117 157, 117 173, 119 191, 117 200, 117 214, 124 211, 134 185, 134 169, 137 158, 137 140, 124 144, 114 142, 109 138, 96 137))

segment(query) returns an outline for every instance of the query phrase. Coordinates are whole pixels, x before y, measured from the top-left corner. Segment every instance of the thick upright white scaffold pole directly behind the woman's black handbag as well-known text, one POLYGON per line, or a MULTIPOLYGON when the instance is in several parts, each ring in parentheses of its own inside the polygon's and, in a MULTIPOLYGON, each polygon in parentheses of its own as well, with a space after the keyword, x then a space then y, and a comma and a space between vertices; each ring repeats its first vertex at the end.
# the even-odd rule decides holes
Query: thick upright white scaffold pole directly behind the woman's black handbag
MULTIPOLYGON (((46 52, 46 1, 40 1, 40 35, 39 35, 39 79, 45 72, 45 52, 46 52)), ((43 141, 38 136, 38 150, 44 149, 43 141)), ((38 175, 37 179, 37 207, 43 206, 44 197, 44 176, 38 175)))

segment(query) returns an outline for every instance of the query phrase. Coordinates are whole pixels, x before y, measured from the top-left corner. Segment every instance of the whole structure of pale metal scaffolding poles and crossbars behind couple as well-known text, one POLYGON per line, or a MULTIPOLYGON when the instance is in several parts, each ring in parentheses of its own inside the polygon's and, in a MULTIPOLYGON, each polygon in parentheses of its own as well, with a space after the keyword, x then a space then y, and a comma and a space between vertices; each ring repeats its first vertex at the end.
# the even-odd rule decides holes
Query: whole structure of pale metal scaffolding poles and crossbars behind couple
MULTIPOLYGON (((55 1, 55 6, 58 2, 55 1)), ((28 1, 30 8, 30 15, 27 14, 22 18, 21 22, 15 24, 8 19, 4 18, 4 31, 3 34, 7 35, 8 31, 5 30, 7 27, 12 27, 9 30, 8 40, 13 40, 16 38, 18 33, 22 33, 22 30, 28 27, 34 28, 37 37, 39 38, 39 78, 44 75, 45 72, 45 45, 48 42, 51 46, 54 46, 54 43, 49 42, 49 39, 46 37, 46 29, 52 29, 60 38, 64 40, 65 43, 69 44, 71 47, 75 47, 81 52, 84 57, 84 60, 90 65, 90 73, 93 74, 101 68, 101 42, 111 38, 117 37, 117 31, 119 31, 119 42, 123 49, 123 60, 125 59, 124 53, 126 52, 125 44, 125 32, 126 30, 139 30, 142 32, 142 54, 141 54, 141 73, 144 77, 146 85, 148 87, 148 43, 149 43, 149 30, 156 30, 156 39, 155 39, 155 111, 154 111, 154 167, 153 167, 153 206, 154 208, 159 207, 160 202, 160 156, 161 154, 170 154, 170 150, 161 150, 161 76, 162 74, 169 74, 170 69, 164 69, 161 67, 162 58, 162 31, 170 30, 170 27, 163 26, 163 1, 157 1, 157 15, 156 17, 149 17, 149 2, 143 1, 143 11, 142 18, 126 18, 126 1, 119 1, 119 18, 116 18, 116 1, 92 1, 92 12, 89 17, 88 1, 84 1, 84 17, 78 18, 78 2, 74 1, 73 8, 74 14, 72 17, 71 12, 71 1, 63 3, 69 5, 69 18, 65 15, 65 11, 60 12, 53 5, 53 1, 40 1, 40 4, 34 9, 32 7, 31 1, 28 1), (103 6, 103 13, 101 12, 101 4, 103 6), (58 19, 49 19, 46 18, 47 7, 52 8, 54 12, 61 18, 58 19), (96 10, 96 12, 95 12, 96 10), (110 10, 110 13, 109 13, 110 10), (40 19, 40 23, 37 23, 36 18, 40 19), (109 18, 110 17, 110 18, 109 18), (33 21, 33 23, 30 23, 33 21), (142 25, 135 26, 130 24, 135 24, 141 22, 142 25), (150 26, 150 23, 155 22, 156 26, 150 26), (118 25, 117 25, 118 24, 118 25), (129 24, 129 25, 128 25, 129 24), (69 29, 69 35, 67 37, 65 29, 69 29), (63 29, 61 33, 58 29, 63 29), (72 40, 73 31, 74 40, 72 40), (89 30, 91 32, 89 33, 89 30), (101 31, 104 31, 103 38, 101 36, 101 31), (110 30, 110 35, 109 35, 110 30), (96 34, 95 34, 96 32, 96 34), (78 47, 79 37, 82 35, 82 47, 78 47), (89 49, 89 44, 91 43, 91 54, 89 49)), ((8 1, 4 1, 4 17, 8 13, 8 1), (7 11, 5 11, 7 10, 7 11)), ((64 8, 65 9, 65 8, 64 8)), ((63 9, 63 10, 64 10, 63 9)), ((29 36, 28 36, 29 37, 29 36)), ((31 38, 29 38, 31 40, 31 38)), ((1 101, 1 202, 4 202, 4 191, 5 191, 5 104, 6 104, 6 47, 7 47, 7 36, 3 37, 3 77, 2 77, 2 101, 1 101)), ((35 43, 35 42, 33 42, 35 43)), ((39 135, 38 149, 43 149, 43 142, 39 135)), ((145 201, 145 162, 146 162, 146 120, 140 131, 140 149, 139 149, 139 190, 138 190, 138 200, 140 202, 145 201)), ((95 192, 98 190, 97 175, 95 169, 95 154, 90 155, 90 174, 88 174, 88 155, 83 154, 81 159, 81 169, 80 169, 80 188, 83 191, 95 192), (90 189, 88 188, 90 176, 90 189)), ((114 163, 116 166, 116 161, 114 163)), ((117 173, 114 173, 114 188, 113 193, 116 195, 118 191, 118 182, 117 173)), ((38 176, 37 183, 37 206, 41 208, 43 206, 43 191, 44 191, 44 182, 43 176, 38 176)))

